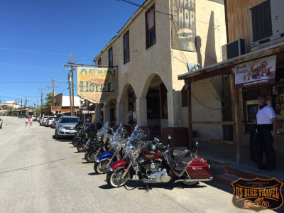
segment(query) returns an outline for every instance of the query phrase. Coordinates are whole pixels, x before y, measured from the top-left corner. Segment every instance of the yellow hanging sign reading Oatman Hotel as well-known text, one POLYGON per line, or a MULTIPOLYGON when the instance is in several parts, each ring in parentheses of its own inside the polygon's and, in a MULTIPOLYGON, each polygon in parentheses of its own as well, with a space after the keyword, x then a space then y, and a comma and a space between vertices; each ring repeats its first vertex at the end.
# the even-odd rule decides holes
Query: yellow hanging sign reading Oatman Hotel
POLYGON ((97 67, 77 67, 77 95, 92 103, 104 103, 116 98, 117 70, 97 67))

